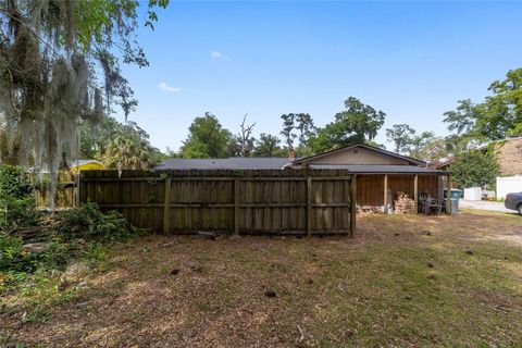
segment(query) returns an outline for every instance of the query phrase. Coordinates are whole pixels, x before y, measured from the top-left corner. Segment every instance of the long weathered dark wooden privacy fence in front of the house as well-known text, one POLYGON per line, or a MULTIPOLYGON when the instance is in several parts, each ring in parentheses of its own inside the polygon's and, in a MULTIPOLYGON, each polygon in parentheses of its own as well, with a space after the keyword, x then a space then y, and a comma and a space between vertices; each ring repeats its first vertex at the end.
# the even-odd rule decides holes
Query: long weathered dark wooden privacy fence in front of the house
POLYGON ((352 235, 356 187, 331 170, 86 171, 79 199, 156 232, 352 235))

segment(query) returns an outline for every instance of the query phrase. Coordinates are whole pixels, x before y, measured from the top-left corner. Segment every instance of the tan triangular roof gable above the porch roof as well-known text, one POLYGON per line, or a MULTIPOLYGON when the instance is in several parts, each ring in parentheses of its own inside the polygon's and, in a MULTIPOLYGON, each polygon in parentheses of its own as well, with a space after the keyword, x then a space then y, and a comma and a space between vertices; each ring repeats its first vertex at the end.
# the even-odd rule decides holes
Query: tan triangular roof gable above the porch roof
POLYGON ((398 154, 364 144, 358 144, 291 162, 291 165, 307 164, 375 164, 424 166, 426 163, 411 157, 398 154))

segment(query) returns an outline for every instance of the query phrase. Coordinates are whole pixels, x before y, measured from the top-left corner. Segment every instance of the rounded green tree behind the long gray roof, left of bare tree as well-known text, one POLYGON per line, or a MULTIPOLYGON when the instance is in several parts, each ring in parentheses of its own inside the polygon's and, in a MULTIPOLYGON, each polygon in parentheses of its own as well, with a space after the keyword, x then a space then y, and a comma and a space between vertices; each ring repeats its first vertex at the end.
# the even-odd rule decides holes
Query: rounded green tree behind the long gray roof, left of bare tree
POLYGON ((181 154, 186 159, 227 157, 227 148, 234 142, 231 132, 223 128, 210 112, 196 117, 188 132, 188 138, 181 148, 181 154))

